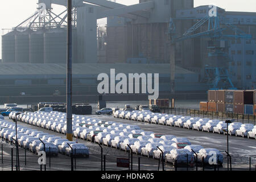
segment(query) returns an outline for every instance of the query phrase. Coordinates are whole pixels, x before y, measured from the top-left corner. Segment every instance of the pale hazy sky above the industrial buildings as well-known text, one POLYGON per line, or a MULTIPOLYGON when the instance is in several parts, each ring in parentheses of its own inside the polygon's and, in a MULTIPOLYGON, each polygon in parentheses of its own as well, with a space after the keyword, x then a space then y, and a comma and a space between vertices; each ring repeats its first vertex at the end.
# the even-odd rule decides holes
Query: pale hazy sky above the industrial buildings
MULTIPOLYGON (((63 0, 65 1, 65 0, 63 0)), ((13 28, 28 18, 36 11, 37 0, 1 0, 0 1, 0 30, 13 28)), ((138 3, 139 0, 117 0, 125 5, 138 3)), ((227 11, 250 11, 256 12, 256 0, 195 0, 195 7, 200 5, 214 4, 227 11)), ((64 7, 53 6, 54 11, 61 11, 64 7)), ((1 35, 2 35, 1 31, 1 35)), ((0 37, 0 42, 2 39, 0 37)), ((0 59, 2 59, 2 45, 0 43, 0 59)))

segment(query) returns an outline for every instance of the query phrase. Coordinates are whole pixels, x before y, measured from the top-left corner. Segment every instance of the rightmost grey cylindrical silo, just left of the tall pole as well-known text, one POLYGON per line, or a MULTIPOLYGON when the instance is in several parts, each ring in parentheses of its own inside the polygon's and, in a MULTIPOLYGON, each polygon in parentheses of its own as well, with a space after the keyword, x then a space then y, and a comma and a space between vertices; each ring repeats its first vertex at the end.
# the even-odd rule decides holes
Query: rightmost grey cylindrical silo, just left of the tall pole
POLYGON ((67 29, 54 28, 44 32, 44 63, 67 62, 67 29))

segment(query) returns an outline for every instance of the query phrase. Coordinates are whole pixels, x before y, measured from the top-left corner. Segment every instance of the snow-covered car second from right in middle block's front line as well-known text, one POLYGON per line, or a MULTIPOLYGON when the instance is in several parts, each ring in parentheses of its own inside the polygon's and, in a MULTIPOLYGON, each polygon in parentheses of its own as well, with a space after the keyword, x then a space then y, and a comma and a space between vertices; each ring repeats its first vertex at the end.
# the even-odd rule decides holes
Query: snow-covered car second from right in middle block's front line
POLYGON ((174 148, 170 154, 166 154, 166 162, 172 164, 189 164, 193 163, 193 154, 185 148, 174 148))

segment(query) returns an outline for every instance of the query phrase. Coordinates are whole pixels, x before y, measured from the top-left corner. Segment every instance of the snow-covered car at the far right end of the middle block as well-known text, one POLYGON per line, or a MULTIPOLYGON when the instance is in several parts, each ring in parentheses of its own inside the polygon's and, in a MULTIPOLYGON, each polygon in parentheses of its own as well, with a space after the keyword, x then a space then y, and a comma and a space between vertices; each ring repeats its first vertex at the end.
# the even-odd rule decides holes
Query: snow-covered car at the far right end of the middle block
POLYGON ((223 155, 216 148, 202 148, 197 153, 197 157, 198 157, 199 161, 203 161, 203 158, 204 158, 205 164, 209 164, 209 158, 213 155, 216 155, 218 164, 222 165, 223 155))

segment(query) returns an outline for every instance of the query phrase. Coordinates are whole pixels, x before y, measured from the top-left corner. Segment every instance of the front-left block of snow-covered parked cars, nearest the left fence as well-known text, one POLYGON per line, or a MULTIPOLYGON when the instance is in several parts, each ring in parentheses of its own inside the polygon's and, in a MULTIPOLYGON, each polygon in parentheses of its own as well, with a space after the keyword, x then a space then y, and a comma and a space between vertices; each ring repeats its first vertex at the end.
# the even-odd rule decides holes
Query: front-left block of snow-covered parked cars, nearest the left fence
POLYGON ((35 154, 45 150, 47 155, 52 156, 56 156, 59 153, 68 156, 71 154, 89 156, 88 147, 84 144, 70 142, 67 139, 31 129, 30 127, 24 127, 23 125, 17 125, 16 136, 15 123, 4 119, 0 119, 0 137, 10 143, 15 143, 16 140, 20 147, 26 148, 35 154), (44 142, 45 146, 39 139, 44 142))

